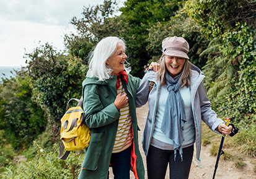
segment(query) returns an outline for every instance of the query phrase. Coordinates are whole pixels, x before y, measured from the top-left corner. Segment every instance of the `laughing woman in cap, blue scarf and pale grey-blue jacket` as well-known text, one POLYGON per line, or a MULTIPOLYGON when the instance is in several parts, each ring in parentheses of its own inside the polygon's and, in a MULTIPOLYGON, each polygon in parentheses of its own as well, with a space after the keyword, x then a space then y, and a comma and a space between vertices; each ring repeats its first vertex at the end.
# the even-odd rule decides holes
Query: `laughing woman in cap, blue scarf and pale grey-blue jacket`
POLYGON ((149 105, 141 136, 149 179, 165 178, 168 163, 170 178, 188 178, 194 143, 200 161, 201 120, 216 133, 231 133, 211 109, 205 76, 189 62, 188 50, 182 37, 164 39, 159 71, 149 70, 137 90, 137 107, 149 105))

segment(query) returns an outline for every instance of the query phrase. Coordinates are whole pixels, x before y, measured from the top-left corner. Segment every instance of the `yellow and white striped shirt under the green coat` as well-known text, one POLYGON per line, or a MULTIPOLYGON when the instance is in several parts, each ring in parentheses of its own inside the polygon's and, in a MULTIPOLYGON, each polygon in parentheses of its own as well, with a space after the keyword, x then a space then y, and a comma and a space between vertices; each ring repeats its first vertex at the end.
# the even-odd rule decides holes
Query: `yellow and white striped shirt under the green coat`
MULTIPOLYGON (((120 80, 120 87, 117 89, 117 94, 125 93, 125 89, 120 80)), ((120 118, 118 121, 117 135, 112 153, 124 151, 131 146, 131 114, 129 102, 126 106, 120 108, 120 118)))

